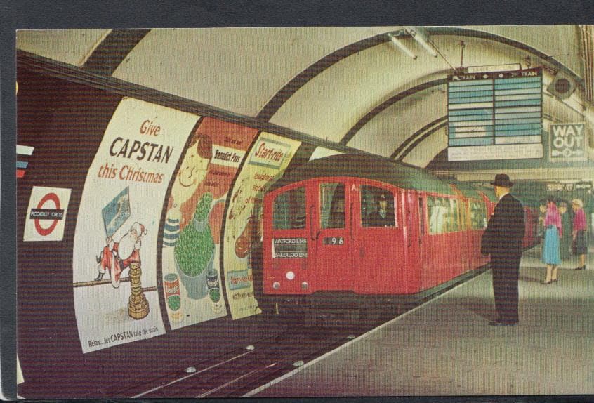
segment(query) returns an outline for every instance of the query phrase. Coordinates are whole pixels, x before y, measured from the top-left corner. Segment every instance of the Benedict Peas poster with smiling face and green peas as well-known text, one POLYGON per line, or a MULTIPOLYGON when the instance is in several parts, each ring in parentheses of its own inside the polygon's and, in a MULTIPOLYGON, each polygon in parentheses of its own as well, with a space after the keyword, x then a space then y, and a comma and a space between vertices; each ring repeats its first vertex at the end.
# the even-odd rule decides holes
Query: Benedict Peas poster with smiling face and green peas
POLYGON ((163 292, 171 329, 227 315, 220 281, 225 200, 256 129, 204 118, 192 134, 167 204, 163 292))

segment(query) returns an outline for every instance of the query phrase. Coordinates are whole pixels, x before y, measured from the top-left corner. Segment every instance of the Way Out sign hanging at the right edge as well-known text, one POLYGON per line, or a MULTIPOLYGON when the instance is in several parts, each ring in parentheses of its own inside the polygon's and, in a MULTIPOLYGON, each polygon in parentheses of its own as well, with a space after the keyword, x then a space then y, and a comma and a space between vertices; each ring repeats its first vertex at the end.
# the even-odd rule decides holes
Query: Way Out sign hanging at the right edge
POLYGON ((586 124, 550 125, 549 161, 579 161, 586 159, 586 124))

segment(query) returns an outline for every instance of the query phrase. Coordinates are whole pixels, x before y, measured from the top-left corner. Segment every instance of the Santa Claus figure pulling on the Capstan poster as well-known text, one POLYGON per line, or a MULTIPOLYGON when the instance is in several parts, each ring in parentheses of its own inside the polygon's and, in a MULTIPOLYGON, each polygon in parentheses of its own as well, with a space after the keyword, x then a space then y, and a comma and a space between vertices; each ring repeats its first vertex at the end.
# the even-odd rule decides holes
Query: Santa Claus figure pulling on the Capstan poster
POLYGON ((106 245, 101 251, 101 256, 95 256, 97 260, 98 276, 95 281, 103 279, 105 272, 110 272, 112 286, 119 287, 121 272, 128 268, 131 263, 140 263, 140 239, 145 236, 147 230, 140 223, 133 223, 132 227, 119 242, 114 242, 112 237, 107 237, 106 245))

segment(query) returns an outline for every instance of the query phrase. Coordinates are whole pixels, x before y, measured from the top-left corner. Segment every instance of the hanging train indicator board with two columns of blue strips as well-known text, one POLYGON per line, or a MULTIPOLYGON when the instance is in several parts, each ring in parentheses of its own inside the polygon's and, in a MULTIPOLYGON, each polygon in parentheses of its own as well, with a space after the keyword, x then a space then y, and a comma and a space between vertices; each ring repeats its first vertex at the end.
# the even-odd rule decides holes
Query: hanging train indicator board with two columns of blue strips
POLYGON ((541 69, 447 78, 449 161, 543 157, 541 69))

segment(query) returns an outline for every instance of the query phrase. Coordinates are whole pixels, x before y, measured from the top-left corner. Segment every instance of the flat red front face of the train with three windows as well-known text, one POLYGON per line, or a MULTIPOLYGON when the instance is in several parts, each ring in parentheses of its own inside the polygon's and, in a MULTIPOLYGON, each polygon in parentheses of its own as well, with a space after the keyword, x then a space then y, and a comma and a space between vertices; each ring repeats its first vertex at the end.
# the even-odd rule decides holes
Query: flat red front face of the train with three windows
POLYGON ((404 209, 402 189, 348 176, 302 180, 270 193, 265 293, 414 292, 407 282, 404 209))

